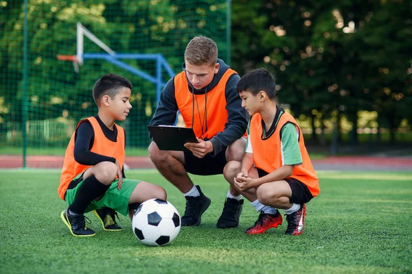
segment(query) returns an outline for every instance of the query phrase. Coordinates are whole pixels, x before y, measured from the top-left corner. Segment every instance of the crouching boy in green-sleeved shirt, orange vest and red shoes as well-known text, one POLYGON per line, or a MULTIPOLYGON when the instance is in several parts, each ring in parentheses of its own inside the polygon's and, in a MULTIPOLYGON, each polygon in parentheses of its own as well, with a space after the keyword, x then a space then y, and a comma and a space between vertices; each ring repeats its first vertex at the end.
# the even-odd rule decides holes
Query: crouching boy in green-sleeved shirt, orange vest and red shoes
POLYGON ((231 161, 224 175, 260 212, 246 230, 260 234, 282 225, 286 213, 287 235, 304 230, 305 204, 319 195, 319 180, 306 151, 304 136, 292 115, 275 103, 275 79, 265 69, 255 69, 238 83, 242 107, 252 116, 247 149, 242 162, 231 161))

